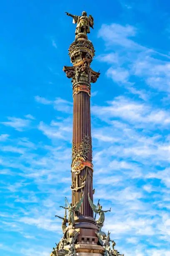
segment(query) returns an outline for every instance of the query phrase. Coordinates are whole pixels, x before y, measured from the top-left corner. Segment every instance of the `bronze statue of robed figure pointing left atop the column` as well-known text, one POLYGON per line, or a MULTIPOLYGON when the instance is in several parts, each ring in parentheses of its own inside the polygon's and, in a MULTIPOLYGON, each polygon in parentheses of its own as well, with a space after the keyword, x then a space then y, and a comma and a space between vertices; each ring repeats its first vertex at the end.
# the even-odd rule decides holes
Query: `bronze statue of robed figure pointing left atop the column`
POLYGON ((82 16, 72 15, 70 13, 65 12, 68 16, 73 18, 72 23, 77 23, 75 34, 78 35, 79 33, 90 33, 90 27, 93 28, 94 19, 92 15, 87 16, 85 11, 82 12, 82 16))

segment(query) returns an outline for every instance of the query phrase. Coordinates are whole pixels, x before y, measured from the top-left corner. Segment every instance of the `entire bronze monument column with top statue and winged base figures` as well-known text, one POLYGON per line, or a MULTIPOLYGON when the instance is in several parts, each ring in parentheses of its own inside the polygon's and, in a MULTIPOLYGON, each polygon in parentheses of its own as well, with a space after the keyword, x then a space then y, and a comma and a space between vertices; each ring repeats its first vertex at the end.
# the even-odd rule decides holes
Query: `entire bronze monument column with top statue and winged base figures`
POLYGON ((75 41, 68 51, 71 67, 64 66, 63 71, 71 79, 73 91, 73 137, 72 137, 72 164, 71 175, 72 202, 67 198, 63 206, 62 219, 63 236, 50 256, 120 256, 114 248, 115 241, 110 240, 110 232, 102 231, 105 221, 105 212, 98 202, 93 203, 93 164, 92 164, 92 138, 90 121, 90 91, 91 83, 95 83, 100 76, 99 72, 91 69, 90 64, 95 50, 92 42, 88 40, 87 33, 93 28, 94 19, 82 15, 72 15, 76 23, 75 41))

